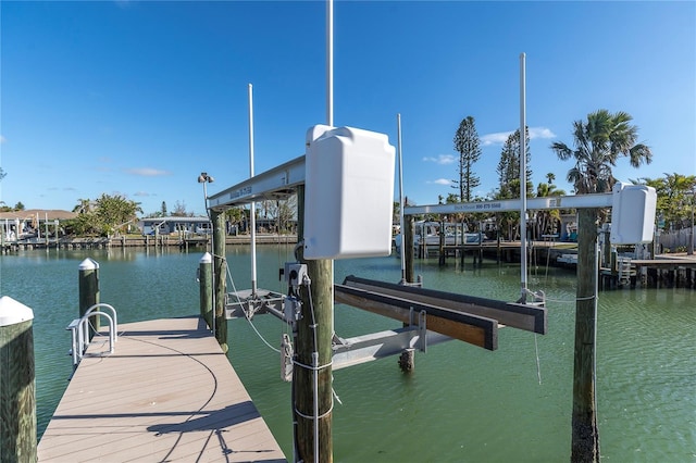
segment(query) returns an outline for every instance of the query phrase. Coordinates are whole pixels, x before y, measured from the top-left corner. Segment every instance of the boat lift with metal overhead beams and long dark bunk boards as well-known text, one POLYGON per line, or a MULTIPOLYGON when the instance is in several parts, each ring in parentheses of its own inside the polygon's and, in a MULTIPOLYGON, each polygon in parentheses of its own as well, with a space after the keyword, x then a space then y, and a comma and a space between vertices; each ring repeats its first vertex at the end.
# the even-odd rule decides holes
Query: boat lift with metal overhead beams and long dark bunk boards
MULTIPOLYGON (((225 210, 257 200, 283 199, 293 195, 295 187, 303 184, 304 157, 299 157, 275 168, 253 176, 240 184, 227 188, 209 198, 209 208, 225 210)), ((527 209, 583 209, 583 208, 623 208, 621 210, 643 210, 633 207, 634 197, 644 197, 647 187, 617 184, 609 193, 563 196, 552 198, 530 198, 527 209), (631 204, 631 205, 630 205, 631 204)), ((638 198, 641 200, 641 198, 638 198)), ((500 201, 475 201, 468 203, 434 204, 406 207, 405 214, 451 214, 467 212, 517 211, 520 199, 500 201)), ((617 214, 621 217, 621 213, 617 214)), ((649 216, 649 213, 647 214, 649 216)), ((623 227, 614 221, 613 229, 631 234, 641 234, 635 217, 623 221, 623 227), (630 227, 630 229, 629 229, 630 227)), ((627 237, 638 241, 643 237, 627 237)), ((289 274, 299 263, 288 263, 284 268, 286 281, 291 285, 289 274)), ((425 350, 427 343, 459 339, 487 350, 497 349, 497 329, 510 326, 535 334, 546 334, 547 318, 544 309, 544 295, 532 293, 531 301, 505 302, 485 298, 434 291, 424 288, 365 280, 348 277, 343 285, 334 285, 334 299, 358 309, 380 313, 401 321, 408 326, 380 334, 371 334, 352 339, 335 337, 334 370, 347 364, 362 363, 386 355, 398 354, 403 349, 418 347, 425 350), (431 333, 427 333, 431 331, 431 333), (426 334, 427 333, 427 334, 426 334), (435 336, 434 334, 439 334, 435 336)), ((256 314, 271 313, 291 324, 295 313, 287 296, 265 289, 241 290, 227 293, 227 318, 252 317, 256 314)))

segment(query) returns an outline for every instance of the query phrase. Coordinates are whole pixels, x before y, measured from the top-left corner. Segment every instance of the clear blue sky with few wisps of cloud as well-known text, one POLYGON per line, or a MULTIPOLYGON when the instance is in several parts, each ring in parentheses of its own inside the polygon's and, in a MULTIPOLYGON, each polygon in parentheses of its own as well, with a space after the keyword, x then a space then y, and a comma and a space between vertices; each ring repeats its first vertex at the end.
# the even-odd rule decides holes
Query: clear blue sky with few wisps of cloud
MULTIPOLYGON (((0 3, 0 201, 72 210, 123 195, 145 213, 176 202, 203 213, 244 180, 247 86, 256 172, 303 154, 326 122, 323 1, 0 3)), ((497 187, 501 143, 520 124, 519 55, 534 183, 571 162, 572 123, 625 111, 654 163, 619 179, 696 174, 696 2, 334 3, 334 123, 386 133, 401 114, 405 192, 456 192, 452 138, 472 115, 483 154, 477 193, 497 187)))

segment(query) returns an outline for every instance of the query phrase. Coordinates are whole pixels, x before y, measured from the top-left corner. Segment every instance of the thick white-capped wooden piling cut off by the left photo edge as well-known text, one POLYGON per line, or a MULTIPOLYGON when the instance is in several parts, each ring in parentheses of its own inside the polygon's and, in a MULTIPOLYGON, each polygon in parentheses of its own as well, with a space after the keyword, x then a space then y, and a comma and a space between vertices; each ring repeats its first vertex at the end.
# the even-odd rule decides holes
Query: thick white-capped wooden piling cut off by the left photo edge
POLYGON ((34 311, 0 298, 0 462, 37 461, 34 311))

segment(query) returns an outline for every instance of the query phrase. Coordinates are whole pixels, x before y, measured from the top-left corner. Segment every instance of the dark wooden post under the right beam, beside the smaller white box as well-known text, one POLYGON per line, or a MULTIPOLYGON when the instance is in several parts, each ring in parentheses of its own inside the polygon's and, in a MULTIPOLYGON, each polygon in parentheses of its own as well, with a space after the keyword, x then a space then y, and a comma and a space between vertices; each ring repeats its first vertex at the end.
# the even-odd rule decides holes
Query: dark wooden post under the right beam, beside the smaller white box
POLYGON ((595 343, 597 323, 596 209, 577 212, 577 300, 571 462, 599 461, 599 430, 595 398, 595 343))

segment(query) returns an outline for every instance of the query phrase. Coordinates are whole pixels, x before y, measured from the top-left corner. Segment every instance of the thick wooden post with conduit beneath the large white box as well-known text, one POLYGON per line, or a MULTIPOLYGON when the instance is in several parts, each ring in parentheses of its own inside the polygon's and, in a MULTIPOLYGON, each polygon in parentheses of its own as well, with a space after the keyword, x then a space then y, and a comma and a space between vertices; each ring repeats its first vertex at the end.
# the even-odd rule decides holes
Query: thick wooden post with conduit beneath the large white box
MULTIPOLYGON (((297 234, 298 242, 301 242, 304 237, 303 185, 297 189, 297 234)), ((304 261, 302 247, 298 248, 298 252, 300 262, 307 264, 311 286, 309 291, 306 287, 300 291, 302 306, 301 317, 297 322, 296 363, 293 368, 296 459, 304 462, 330 463, 333 461, 331 367, 334 326, 333 262, 331 260, 304 261), (318 358, 314 352, 318 353, 318 358), (314 383, 314 372, 316 372, 316 383, 314 383), (319 416, 316 421, 315 414, 319 416), (316 427, 315 423, 318 423, 316 427)))

